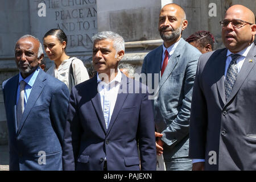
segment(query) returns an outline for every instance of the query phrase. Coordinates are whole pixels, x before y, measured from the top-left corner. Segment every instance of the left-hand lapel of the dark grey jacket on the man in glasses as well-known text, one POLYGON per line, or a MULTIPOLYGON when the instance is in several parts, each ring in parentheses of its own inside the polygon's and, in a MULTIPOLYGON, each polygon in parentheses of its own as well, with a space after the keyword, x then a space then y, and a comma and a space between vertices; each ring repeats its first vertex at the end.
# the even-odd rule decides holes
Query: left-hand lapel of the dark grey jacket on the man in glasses
POLYGON ((224 73, 225 73, 225 65, 226 65, 226 52, 228 49, 224 49, 224 51, 220 52, 220 54, 216 57, 216 78, 219 78, 217 81, 217 89, 218 94, 220 94, 222 104, 225 105, 226 103, 226 96, 225 96, 225 87, 224 87, 224 73))

